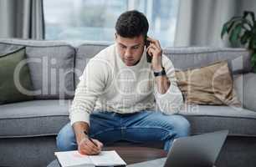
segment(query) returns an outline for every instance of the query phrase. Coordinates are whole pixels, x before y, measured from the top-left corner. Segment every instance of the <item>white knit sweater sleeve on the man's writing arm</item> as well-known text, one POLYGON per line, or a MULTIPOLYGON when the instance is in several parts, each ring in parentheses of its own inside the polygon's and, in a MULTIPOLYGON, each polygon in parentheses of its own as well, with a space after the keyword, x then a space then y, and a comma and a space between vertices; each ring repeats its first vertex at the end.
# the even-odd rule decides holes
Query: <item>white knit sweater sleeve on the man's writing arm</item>
POLYGON ((107 77, 106 66, 102 60, 90 59, 84 68, 80 81, 75 89, 74 101, 69 109, 70 123, 86 122, 90 124, 90 113, 94 110, 95 102, 105 89, 107 77))

